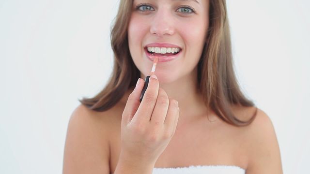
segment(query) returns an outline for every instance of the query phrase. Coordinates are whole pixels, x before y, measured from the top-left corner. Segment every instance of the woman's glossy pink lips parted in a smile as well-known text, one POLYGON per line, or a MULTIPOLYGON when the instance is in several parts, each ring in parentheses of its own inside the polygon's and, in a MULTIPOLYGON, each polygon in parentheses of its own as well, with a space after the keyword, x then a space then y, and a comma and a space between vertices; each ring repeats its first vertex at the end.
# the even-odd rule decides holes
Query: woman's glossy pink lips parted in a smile
POLYGON ((157 57, 158 58, 158 62, 167 62, 167 61, 171 61, 174 60, 175 58, 177 58, 180 53, 182 52, 182 49, 180 48, 180 51, 175 54, 175 55, 171 55, 171 56, 153 56, 151 53, 149 53, 147 51, 147 47, 151 47, 151 46, 156 46, 156 47, 174 47, 174 48, 180 48, 180 46, 174 45, 174 44, 170 44, 170 43, 151 43, 151 44, 147 44, 144 47, 144 51, 146 54, 146 57, 148 57, 151 61, 154 61, 154 58, 157 57))

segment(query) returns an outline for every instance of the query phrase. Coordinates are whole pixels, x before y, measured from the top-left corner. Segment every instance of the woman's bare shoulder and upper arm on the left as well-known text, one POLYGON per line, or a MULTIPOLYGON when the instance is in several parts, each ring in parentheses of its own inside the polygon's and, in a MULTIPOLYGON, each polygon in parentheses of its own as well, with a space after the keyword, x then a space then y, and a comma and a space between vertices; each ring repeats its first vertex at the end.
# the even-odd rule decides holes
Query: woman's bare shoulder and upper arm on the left
POLYGON ((109 174, 109 112, 79 105, 72 113, 65 141, 63 174, 109 174))

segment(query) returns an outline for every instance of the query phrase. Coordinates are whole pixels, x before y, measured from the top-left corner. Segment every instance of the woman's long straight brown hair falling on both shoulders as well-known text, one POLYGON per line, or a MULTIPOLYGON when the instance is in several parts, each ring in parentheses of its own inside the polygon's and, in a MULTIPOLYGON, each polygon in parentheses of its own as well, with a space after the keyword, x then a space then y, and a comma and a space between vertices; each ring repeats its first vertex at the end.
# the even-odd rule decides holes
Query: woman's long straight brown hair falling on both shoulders
MULTIPOLYGON (((114 67, 106 87, 93 98, 79 100, 94 111, 106 111, 113 107, 140 78, 140 71, 128 47, 127 28, 131 9, 132 0, 120 1, 111 30, 114 67)), ((209 17, 207 38, 198 63, 198 86, 206 106, 219 118, 234 126, 246 126, 254 120, 257 108, 248 121, 239 120, 231 110, 231 104, 255 105, 242 94, 234 74, 226 0, 210 0, 209 17)))

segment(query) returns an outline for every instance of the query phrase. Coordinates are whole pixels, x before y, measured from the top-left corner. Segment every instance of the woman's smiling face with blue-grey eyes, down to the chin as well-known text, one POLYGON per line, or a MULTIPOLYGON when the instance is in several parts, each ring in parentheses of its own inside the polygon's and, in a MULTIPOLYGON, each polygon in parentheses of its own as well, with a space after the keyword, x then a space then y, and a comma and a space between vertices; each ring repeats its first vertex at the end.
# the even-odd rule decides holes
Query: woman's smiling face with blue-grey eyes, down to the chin
POLYGON ((133 0, 128 44, 140 72, 149 75, 156 56, 155 74, 162 83, 195 73, 208 14, 209 0, 133 0))

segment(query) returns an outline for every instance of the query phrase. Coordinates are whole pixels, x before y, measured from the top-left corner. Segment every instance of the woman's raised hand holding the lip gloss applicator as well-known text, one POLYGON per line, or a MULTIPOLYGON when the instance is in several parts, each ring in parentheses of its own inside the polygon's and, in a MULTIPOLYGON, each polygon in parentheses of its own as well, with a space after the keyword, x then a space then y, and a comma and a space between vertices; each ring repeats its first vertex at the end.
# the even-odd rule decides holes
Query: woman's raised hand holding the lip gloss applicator
POLYGON ((151 76, 141 103, 144 81, 139 78, 122 115, 120 159, 140 165, 155 165, 174 135, 179 118, 178 102, 159 88, 154 77, 151 76))

